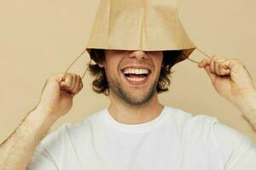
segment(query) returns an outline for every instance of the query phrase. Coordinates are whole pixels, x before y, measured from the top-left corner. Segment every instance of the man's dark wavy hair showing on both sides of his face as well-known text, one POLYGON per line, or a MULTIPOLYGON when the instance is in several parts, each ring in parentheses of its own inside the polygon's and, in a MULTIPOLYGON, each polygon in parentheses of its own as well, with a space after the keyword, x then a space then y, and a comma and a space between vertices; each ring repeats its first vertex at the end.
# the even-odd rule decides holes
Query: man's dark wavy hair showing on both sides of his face
MULTIPOLYGON (((168 86, 171 81, 171 68, 178 61, 180 61, 180 56, 182 55, 182 50, 167 50, 163 51, 163 62, 160 71, 160 77, 157 84, 157 93, 165 92, 168 90, 168 86)), ((89 64, 89 71, 92 77, 95 77, 92 82, 92 89, 97 94, 109 94, 108 80, 104 68, 99 67, 97 63, 102 63, 105 59, 104 49, 91 49, 90 58, 93 59, 96 64, 89 64)))

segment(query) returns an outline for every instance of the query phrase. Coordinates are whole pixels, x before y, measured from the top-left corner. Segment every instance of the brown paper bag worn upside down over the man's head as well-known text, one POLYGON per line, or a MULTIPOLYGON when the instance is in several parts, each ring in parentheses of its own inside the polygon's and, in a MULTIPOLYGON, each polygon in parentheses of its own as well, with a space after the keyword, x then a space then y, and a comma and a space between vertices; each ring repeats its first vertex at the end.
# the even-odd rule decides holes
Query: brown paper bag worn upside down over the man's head
POLYGON ((177 62, 195 49, 177 14, 177 0, 102 0, 87 51, 92 48, 182 50, 177 62))

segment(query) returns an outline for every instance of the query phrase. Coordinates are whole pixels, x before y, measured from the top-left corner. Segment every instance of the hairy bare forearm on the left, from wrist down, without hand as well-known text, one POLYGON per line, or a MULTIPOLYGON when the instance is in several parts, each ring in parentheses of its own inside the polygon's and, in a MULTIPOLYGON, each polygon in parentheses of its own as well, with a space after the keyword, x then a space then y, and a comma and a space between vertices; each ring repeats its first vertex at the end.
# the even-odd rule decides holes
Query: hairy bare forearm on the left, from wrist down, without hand
POLYGON ((26 169, 33 150, 55 120, 43 111, 32 111, 15 133, 0 145, 0 169, 26 169))

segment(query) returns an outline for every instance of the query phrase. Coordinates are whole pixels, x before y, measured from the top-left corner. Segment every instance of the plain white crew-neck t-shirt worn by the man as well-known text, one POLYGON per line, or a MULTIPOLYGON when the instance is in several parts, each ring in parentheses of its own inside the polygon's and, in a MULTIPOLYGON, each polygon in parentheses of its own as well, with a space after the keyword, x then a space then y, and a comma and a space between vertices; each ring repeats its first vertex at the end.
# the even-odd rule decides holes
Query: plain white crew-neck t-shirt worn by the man
POLYGON ((142 124, 108 110, 66 123, 42 140, 29 170, 255 170, 256 146, 211 116, 165 106, 142 124))

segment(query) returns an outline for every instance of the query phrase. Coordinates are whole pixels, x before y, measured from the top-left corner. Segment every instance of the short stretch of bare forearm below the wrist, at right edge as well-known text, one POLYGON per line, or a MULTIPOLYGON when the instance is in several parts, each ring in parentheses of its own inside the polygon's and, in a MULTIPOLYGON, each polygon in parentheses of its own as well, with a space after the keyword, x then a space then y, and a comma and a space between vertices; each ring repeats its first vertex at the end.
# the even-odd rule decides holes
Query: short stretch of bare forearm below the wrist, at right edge
POLYGON ((234 99, 233 104, 241 111, 242 116, 247 119, 256 131, 256 90, 248 91, 234 99))

